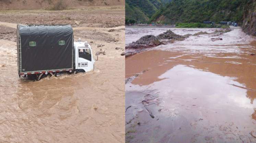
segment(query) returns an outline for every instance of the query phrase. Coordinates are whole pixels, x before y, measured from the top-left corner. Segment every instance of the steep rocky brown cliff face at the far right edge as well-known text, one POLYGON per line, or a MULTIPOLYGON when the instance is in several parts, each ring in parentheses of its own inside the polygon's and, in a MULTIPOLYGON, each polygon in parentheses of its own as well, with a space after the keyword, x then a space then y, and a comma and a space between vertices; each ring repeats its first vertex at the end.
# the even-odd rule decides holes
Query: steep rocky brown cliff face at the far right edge
POLYGON ((244 7, 242 29, 245 33, 256 36, 256 0, 248 0, 244 7))

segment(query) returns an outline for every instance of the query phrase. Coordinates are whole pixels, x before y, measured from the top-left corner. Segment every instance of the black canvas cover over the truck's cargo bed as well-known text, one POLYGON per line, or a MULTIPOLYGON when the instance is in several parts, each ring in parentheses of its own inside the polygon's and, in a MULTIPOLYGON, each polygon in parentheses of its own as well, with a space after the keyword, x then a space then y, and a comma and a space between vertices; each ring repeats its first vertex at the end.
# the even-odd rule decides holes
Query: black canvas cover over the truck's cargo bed
POLYGON ((70 25, 18 25, 18 40, 20 73, 73 68, 73 29, 70 25))

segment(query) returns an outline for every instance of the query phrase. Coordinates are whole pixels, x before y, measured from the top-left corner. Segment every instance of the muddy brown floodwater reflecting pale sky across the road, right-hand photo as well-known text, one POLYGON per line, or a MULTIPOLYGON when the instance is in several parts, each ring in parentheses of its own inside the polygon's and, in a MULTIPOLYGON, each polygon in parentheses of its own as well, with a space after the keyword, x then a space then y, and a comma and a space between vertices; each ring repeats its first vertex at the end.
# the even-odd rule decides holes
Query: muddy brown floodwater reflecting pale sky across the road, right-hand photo
MULTIPOLYGON (((126 37, 133 39, 126 42, 166 30, 128 28, 126 37)), ((171 30, 185 35, 215 29, 171 30)), ((126 58, 126 142, 256 142, 252 53, 255 38, 238 28, 191 36, 126 58)))

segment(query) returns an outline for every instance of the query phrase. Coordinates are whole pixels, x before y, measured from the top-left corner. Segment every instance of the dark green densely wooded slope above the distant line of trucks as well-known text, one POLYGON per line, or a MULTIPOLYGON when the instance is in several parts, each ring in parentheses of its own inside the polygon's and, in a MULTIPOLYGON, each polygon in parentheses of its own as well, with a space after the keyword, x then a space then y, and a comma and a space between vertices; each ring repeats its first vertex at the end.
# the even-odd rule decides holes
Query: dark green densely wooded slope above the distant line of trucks
POLYGON ((238 21, 242 22, 248 0, 172 0, 150 18, 150 22, 238 21))

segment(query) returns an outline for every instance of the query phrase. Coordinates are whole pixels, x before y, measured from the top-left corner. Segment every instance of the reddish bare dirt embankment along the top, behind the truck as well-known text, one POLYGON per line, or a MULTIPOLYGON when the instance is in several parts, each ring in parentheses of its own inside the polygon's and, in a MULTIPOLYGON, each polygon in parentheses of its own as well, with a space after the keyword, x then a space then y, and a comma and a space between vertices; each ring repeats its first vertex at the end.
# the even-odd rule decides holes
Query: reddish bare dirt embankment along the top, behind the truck
POLYGON ((51 9, 58 2, 66 8, 124 5, 124 0, 0 0, 0 10, 51 9))

